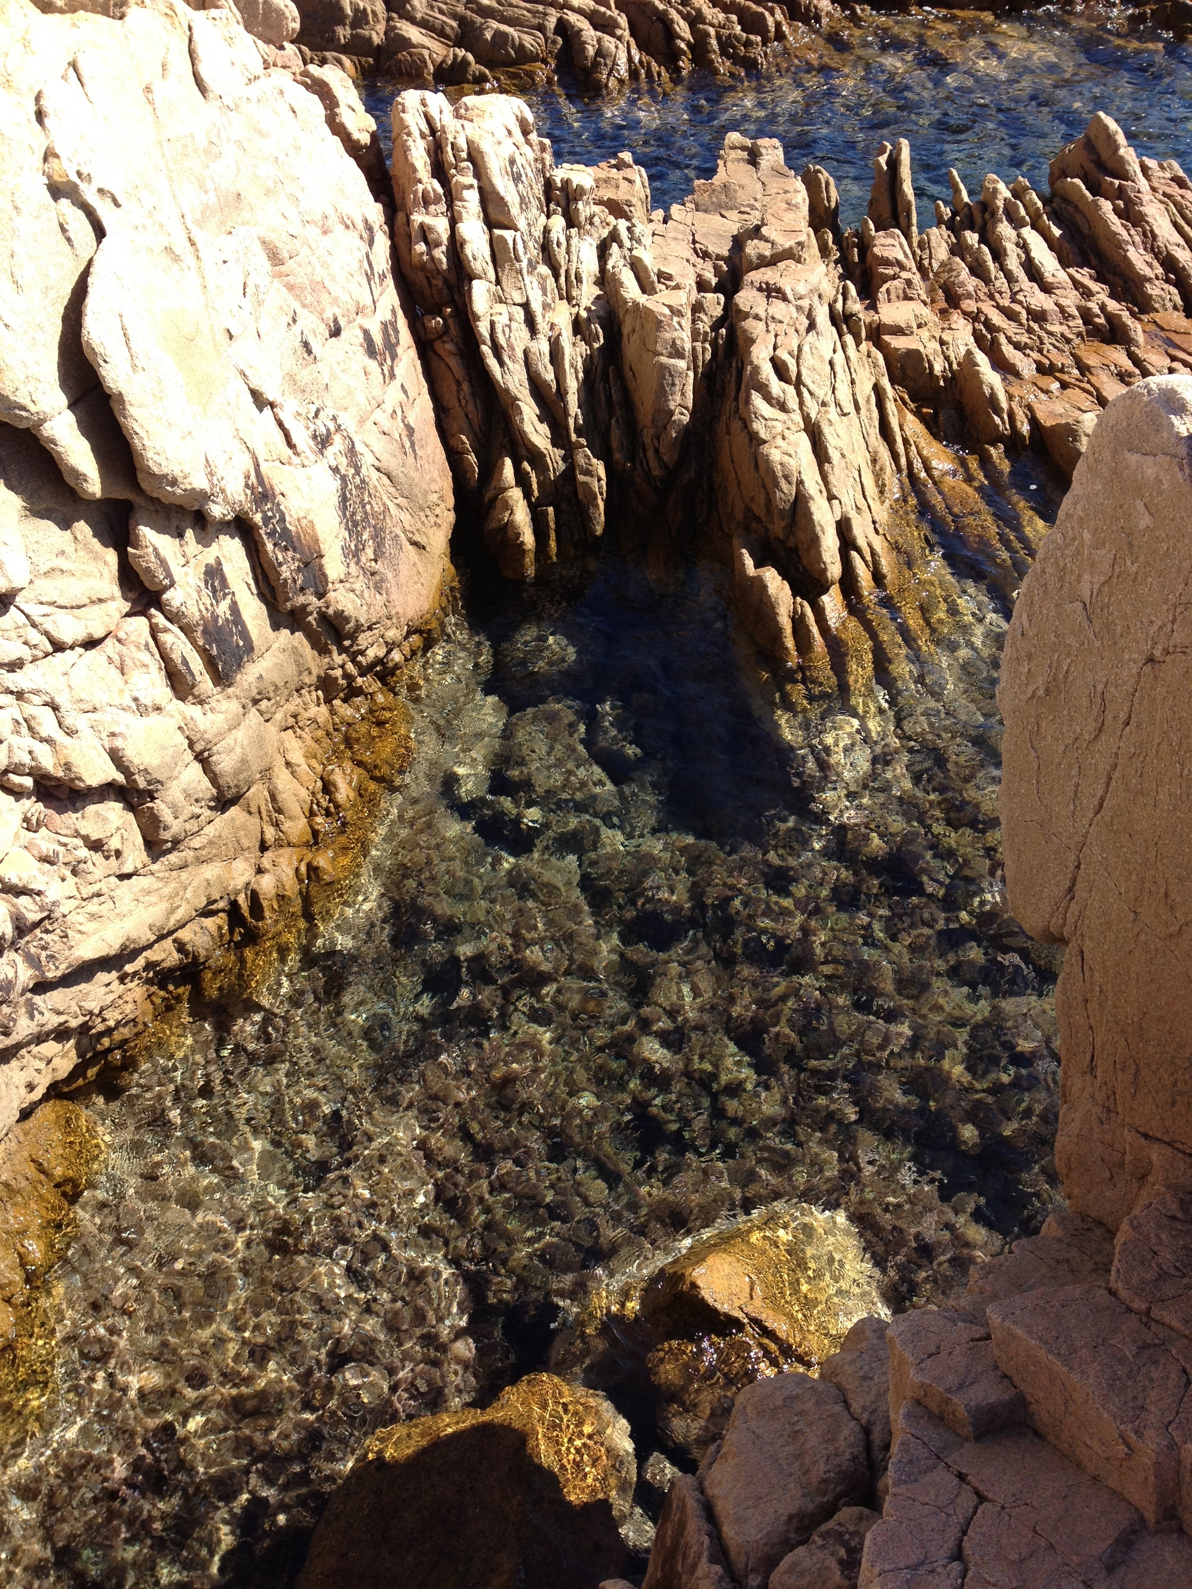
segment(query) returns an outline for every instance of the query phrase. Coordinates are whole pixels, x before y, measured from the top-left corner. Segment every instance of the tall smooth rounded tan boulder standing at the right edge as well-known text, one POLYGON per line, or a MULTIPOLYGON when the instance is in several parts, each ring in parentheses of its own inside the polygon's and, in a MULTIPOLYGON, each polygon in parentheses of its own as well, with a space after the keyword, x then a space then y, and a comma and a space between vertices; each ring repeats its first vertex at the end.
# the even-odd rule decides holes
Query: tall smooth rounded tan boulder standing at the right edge
POLYGON ((1031 934, 1068 944, 1057 1163, 1073 1208, 1111 1230, 1163 1184, 1192 1189, 1171 1036, 1192 1019, 1192 928, 1168 882, 1189 864, 1171 569, 1190 434, 1184 377, 1143 380, 1105 410, 1024 582, 998 691, 1009 898, 1031 934))

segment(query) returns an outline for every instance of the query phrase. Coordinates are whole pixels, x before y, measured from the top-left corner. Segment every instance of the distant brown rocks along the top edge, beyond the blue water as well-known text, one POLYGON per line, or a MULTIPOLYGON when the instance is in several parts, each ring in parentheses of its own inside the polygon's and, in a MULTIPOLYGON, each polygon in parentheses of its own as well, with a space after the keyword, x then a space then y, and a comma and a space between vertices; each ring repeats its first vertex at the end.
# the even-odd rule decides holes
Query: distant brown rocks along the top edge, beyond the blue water
POLYGON ((396 78, 488 83, 510 68, 569 67, 586 92, 636 79, 718 76, 766 64, 790 38, 791 21, 823 25, 830 0, 299 0, 299 44, 348 65, 380 62, 396 78))

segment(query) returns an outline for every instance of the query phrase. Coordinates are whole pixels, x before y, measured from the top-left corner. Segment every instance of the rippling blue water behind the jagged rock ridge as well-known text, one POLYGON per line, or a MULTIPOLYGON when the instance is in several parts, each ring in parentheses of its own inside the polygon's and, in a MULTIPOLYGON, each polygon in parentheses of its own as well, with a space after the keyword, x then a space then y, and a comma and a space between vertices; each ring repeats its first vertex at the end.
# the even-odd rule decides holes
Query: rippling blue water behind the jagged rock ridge
MULTIPOLYGON (((954 165, 969 191, 987 172, 1022 172, 1047 186, 1047 162, 1084 132, 1093 111, 1125 129, 1140 154, 1192 167, 1192 49, 1159 33, 1128 33, 1125 14, 1043 11, 874 16, 815 43, 796 67, 745 81, 693 73, 671 92, 631 87, 583 102, 556 89, 526 94, 556 160, 591 164, 631 149, 655 205, 682 202, 695 178, 715 173, 725 133, 779 138, 799 172, 825 165, 841 215, 857 224, 887 138, 911 140, 915 191, 930 218, 949 199, 954 165)), ((366 100, 388 137, 394 86, 366 100)))

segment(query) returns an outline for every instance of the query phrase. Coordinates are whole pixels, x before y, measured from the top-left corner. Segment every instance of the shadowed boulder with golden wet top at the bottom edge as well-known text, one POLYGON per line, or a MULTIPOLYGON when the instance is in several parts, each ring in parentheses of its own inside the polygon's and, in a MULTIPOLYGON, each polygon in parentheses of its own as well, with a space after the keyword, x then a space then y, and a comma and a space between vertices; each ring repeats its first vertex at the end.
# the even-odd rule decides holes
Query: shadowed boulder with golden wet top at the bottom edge
MULTIPOLYGON (((485 1413, 413 1419, 369 1440, 315 1532, 300 1589, 528 1583, 596 1589, 625 1564, 636 1460, 594 1390, 529 1374, 485 1413), (480 1568, 483 1564, 483 1568, 480 1568)), ((718 1586, 717 1586, 718 1589, 718 1586)))

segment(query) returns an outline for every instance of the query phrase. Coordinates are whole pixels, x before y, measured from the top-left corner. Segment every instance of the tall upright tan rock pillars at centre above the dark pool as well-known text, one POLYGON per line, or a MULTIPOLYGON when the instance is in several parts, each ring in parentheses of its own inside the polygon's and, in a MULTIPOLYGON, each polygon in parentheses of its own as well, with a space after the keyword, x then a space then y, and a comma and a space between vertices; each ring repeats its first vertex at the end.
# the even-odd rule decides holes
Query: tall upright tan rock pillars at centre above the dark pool
POLYGON ((841 582, 865 597, 904 570, 887 504, 906 469, 885 367, 812 229, 831 178, 730 135, 664 219, 629 154, 556 168, 518 100, 407 92, 393 122, 397 254, 502 572, 598 537, 610 491, 637 518, 695 513, 763 647, 826 666, 841 582))

